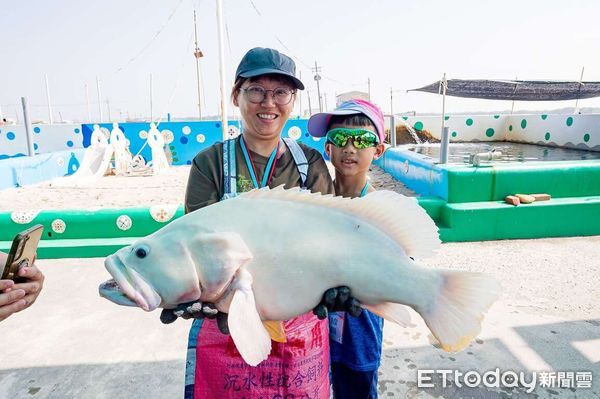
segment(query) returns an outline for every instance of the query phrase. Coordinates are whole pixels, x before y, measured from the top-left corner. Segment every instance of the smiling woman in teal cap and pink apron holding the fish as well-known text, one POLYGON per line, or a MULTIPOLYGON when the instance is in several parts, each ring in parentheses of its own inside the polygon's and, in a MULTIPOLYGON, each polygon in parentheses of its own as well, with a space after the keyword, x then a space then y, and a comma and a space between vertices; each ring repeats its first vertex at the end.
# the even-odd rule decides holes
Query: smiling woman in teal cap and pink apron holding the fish
MULTIPOLYGON (((304 89, 295 70, 294 61, 276 50, 254 48, 246 53, 231 93, 233 104, 240 109, 242 134, 216 143, 194 158, 186 212, 264 186, 300 186, 333 193, 319 152, 281 138, 296 91, 304 89)), ((290 231, 293 229, 290 226, 290 231)), ((287 342, 273 342, 267 360, 250 367, 214 320, 195 320, 188 345, 185 397, 328 397, 327 321, 306 314, 286 321, 285 331, 287 342)))

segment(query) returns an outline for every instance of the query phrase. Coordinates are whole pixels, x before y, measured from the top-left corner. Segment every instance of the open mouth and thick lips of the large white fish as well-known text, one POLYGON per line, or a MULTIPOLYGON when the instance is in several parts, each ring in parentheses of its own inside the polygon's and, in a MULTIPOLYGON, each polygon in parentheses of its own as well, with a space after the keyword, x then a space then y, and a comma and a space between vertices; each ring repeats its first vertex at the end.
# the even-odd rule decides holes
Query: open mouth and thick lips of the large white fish
POLYGON ((106 270, 113 276, 98 288, 100 296, 117 305, 139 306, 147 312, 158 308, 160 295, 135 270, 127 268, 117 255, 104 261, 106 270))

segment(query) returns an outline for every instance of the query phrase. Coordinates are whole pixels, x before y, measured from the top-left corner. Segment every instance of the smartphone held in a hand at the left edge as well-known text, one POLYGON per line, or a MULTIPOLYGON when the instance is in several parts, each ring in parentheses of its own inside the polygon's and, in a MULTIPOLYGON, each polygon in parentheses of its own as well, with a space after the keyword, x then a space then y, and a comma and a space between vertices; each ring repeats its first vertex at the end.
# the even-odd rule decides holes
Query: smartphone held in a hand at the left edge
POLYGON ((42 232, 44 226, 36 224, 31 226, 25 231, 17 234, 13 240, 8 258, 6 259, 6 265, 2 272, 2 279, 9 279, 18 281, 18 271, 22 267, 28 267, 33 264, 35 259, 35 253, 37 251, 40 238, 42 238, 42 232))

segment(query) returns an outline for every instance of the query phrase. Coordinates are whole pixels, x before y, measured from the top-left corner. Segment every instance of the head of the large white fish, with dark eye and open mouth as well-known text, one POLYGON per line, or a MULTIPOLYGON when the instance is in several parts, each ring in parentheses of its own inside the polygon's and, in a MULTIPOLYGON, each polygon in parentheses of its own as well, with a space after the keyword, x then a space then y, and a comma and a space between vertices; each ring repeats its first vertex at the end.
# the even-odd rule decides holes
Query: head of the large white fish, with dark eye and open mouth
POLYGON ((168 227, 105 259, 113 279, 100 285, 101 296, 146 311, 215 301, 252 258, 237 233, 168 227))

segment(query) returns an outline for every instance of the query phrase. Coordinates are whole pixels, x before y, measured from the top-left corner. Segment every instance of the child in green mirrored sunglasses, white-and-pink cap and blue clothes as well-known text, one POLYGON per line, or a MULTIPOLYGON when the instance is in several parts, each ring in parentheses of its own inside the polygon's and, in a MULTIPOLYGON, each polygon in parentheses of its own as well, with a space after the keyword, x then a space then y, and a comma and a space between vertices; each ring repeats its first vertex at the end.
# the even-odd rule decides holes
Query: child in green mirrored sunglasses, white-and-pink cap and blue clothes
MULTIPOLYGON (((335 168, 336 195, 363 197, 375 191, 367 172, 384 151, 381 110, 364 100, 342 103, 333 112, 313 115, 308 131, 327 137, 325 152, 335 168)), ((330 322, 331 382, 338 399, 377 398, 383 319, 363 310, 359 317, 332 313, 330 322)))

